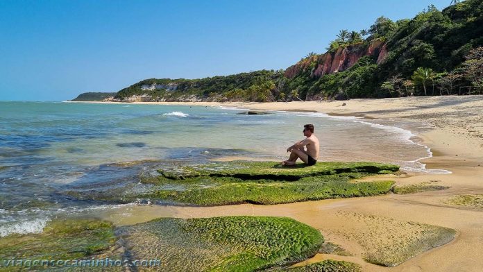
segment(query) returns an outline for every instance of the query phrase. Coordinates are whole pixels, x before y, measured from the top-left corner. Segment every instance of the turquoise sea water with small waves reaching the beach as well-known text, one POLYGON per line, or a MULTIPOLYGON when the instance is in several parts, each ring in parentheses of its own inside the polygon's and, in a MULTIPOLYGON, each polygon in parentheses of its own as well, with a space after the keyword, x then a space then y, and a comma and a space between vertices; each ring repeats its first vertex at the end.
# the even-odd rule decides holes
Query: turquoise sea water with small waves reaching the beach
POLYGON ((0 236, 35 232, 62 213, 115 207, 65 192, 95 194, 137 182, 157 164, 225 157, 285 160, 314 124, 319 160, 393 162, 425 171, 428 150, 402 128, 354 117, 223 107, 0 101, 0 236), (130 167, 119 162, 144 161, 130 167))

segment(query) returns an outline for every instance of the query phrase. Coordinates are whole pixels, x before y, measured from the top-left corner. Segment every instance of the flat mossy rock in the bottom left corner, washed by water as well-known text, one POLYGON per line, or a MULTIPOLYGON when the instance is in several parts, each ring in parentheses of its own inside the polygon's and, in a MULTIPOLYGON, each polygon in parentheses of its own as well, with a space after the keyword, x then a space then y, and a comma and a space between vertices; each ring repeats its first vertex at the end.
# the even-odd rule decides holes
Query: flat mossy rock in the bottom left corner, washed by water
MULTIPOLYGON (((93 255, 105 253, 105 250, 114 246, 116 240, 112 223, 108 221, 96 219, 50 221, 42 233, 12 234, 0 238, 0 260, 89 260, 93 255)), ((120 256, 117 257, 120 259, 120 256)), ((76 270, 76 268, 49 266, 35 267, 35 269, 76 270)), ((22 270, 19 266, 0 266, 0 271, 19 270, 22 270)))

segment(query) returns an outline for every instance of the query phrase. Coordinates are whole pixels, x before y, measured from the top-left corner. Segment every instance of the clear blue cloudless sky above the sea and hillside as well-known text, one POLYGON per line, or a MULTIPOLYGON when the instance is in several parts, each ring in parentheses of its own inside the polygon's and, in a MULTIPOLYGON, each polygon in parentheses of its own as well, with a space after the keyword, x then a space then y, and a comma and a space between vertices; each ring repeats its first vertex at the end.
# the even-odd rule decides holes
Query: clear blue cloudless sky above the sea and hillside
POLYGON ((145 78, 285 69, 340 29, 450 0, 0 0, 0 100, 65 101, 145 78))

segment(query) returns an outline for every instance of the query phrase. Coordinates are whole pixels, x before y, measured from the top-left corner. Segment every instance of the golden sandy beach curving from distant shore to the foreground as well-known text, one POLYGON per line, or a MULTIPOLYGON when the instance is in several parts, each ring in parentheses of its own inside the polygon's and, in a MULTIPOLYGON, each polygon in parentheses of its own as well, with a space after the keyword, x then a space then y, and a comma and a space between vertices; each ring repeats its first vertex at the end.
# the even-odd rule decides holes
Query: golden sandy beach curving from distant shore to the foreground
MULTIPOLYGON (((167 104, 167 103, 158 103, 167 104)), ((173 105, 175 103, 168 103, 173 105)), ((366 198, 310 201, 282 205, 229 205, 221 207, 166 207, 130 205, 101 214, 118 226, 160 216, 182 218, 223 215, 289 216, 321 231, 326 241, 341 245, 351 256, 318 254, 307 262, 325 259, 360 264, 364 271, 482 271, 483 207, 454 205, 448 199, 483 194, 483 96, 432 96, 349 101, 298 101, 290 103, 176 103, 221 105, 257 110, 316 111, 378 121, 417 121, 432 129, 418 134, 432 158, 421 162, 427 169, 452 173, 393 175, 398 185, 431 182, 449 189, 416 194, 388 194, 366 198), (342 105, 342 103, 346 105, 342 105), (124 216, 120 216, 124 214, 124 216), (129 215, 129 216, 126 216, 129 215), (391 243, 411 239, 407 222, 457 230, 450 243, 416 255, 393 268, 369 264, 362 255, 391 243)), ((323 155, 322 155, 323 156, 323 155)))

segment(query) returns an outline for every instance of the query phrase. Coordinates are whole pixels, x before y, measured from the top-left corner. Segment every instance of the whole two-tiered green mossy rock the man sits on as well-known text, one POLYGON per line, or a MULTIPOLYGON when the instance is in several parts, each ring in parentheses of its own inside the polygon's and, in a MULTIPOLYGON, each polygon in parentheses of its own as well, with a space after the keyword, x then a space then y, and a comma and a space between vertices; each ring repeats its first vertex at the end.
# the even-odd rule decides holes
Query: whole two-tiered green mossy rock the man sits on
MULTIPOLYGON (((160 170, 144 177, 149 192, 124 199, 153 198, 191 205, 264 205, 326 198, 375 196, 391 190, 393 181, 350 182, 380 171, 398 171, 391 164, 319 162, 314 167, 281 167, 275 162, 226 162, 160 170)), ((119 196, 113 196, 119 198, 119 196)))

